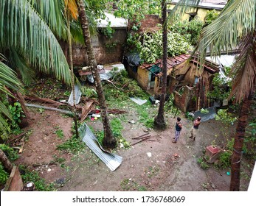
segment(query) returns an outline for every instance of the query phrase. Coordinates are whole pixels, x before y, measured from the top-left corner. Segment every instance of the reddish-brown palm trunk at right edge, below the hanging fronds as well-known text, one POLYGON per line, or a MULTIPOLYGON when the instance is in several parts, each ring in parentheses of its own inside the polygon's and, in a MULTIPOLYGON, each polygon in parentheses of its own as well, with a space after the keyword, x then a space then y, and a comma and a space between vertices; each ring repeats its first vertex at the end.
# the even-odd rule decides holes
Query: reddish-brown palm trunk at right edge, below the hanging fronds
POLYGON ((230 180, 230 191, 239 191, 240 188, 240 168, 241 158, 243 152, 243 138, 245 130, 248 124, 248 115, 250 105, 252 103, 253 94, 251 93, 247 99, 243 101, 239 118, 238 125, 235 132, 235 143, 233 146, 232 160, 231 160, 231 180, 230 180))

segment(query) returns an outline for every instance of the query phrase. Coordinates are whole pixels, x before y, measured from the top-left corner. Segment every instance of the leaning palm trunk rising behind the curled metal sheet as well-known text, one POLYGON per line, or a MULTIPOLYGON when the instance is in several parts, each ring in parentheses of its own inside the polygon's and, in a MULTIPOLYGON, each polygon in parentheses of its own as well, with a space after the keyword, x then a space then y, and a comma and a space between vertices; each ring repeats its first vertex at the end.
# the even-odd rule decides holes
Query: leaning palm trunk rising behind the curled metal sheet
POLYGON ((107 113, 107 107, 105 104, 105 96, 103 93, 103 87, 101 85, 100 81, 100 74, 99 71, 97 70, 97 63, 94 57, 94 51, 91 46, 91 35, 89 31, 89 25, 88 25, 88 20, 86 17, 86 9, 84 5, 83 0, 77 0, 78 4, 78 13, 79 13, 79 18, 80 18, 80 24, 82 26, 83 30, 83 39, 86 44, 86 53, 88 56, 89 60, 89 67, 91 69, 91 74, 94 77, 94 82, 97 90, 97 96, 100 102, 100 110, 101 110, 101 116, 103 119, 103 128, 104 128, 104 139, 103 139, 103 146, 108 147, 108 148, 114 148, 117 145, 117 141, 114 138, 111 127, 110 127, 110 122, 108 119, 108 113, 107 113))

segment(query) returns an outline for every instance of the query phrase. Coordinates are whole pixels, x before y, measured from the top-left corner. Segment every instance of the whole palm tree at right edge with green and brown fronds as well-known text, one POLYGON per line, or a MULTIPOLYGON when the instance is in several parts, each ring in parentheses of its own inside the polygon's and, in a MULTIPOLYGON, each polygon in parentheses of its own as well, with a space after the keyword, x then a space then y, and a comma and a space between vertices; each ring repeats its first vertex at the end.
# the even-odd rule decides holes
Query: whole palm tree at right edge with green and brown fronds
POLYGON ((237 46, 241 49, 241 54, 232 68, 235 78, 230 97, 235 96, 236 102, 241 103, 241 110, 232 152, 230 191, 239 191, 243 139, 250 104, 255 93, 255 10, 255 0, 228 1, 218 18, 202 30, 195 50, 198 51, 200 65, 203 65, 208 48, 211 56, 220 55, 221 51, 232 50, 237 46))

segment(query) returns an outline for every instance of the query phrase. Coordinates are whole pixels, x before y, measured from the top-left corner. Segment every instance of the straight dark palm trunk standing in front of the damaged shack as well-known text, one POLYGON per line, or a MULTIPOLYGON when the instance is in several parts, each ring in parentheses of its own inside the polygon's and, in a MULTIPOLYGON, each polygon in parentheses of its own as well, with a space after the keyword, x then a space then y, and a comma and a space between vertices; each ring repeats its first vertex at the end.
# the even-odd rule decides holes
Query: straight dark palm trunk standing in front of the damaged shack
POLYGON ((167 7, 166 1, 162 0, 162 43, 163 43, 163 56, 162 56, 162 90, 159 104, 159 112, 155 118, 154 124, 156 127, 165 128, 165 95, 166 95, 166 81, 167 81, 167 7))

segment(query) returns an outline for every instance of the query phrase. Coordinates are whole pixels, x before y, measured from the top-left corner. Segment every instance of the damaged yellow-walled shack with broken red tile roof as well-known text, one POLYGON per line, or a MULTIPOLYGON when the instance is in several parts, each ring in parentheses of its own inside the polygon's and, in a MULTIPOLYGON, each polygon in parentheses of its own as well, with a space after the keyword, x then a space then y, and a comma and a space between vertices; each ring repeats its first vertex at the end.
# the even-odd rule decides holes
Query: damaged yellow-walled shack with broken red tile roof
MULTIPOLYGON (((211 107, 207 92, 212 90, 213 75, 219 71, 219 65, 206 60, 199 69, 195 58, 189 63, 190 54, 181 54, 167 58, 167 93, 173 93, 174 103, 184 113, 211 107)), ((156 63, 139 65, 138 54, 130 54, 125 58, 125 68, 130 77, 152 96, 159 96, 162 88, 162 60, 156 63)))

